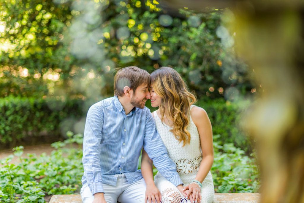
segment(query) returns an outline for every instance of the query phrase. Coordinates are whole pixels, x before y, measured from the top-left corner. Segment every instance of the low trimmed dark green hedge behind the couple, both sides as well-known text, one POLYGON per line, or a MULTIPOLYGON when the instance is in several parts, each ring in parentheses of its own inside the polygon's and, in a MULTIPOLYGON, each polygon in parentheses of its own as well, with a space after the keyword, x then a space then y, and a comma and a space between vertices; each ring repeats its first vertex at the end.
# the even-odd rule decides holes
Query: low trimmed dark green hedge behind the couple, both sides
MULTIPOLYGON (((245 152, 251 152, 249 139, 238 126, 241 121, 239 105, 222 99, 199 100, 211 120, 213 135, 221 135, 223 143, 233 143, 245 152)), ((150 103, 147 102, 150 107, 150 103)), ((243 108, 244 109, 244 108, 243 108)), ((8 96, 0 99, 0 144, 14 146, 16 141, 46 134, 58 136, 72 130, 64 122, 67 118, 76 123, 85 117, 88 106, 83 100, 43 100, 8 96), (61 132, 62 126, 66 128, 61 132)), ((247 153, 248 154, 248 153, 247 153)))

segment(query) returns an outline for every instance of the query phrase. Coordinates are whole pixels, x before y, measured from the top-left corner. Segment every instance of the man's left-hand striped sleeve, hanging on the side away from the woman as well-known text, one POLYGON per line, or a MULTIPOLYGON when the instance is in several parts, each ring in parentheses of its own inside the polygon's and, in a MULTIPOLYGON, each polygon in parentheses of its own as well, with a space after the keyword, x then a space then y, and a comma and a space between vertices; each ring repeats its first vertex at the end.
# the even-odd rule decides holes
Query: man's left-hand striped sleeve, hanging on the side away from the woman
POLYGON ((83 139, 82 163, 85 178, 92 194, 104 193, 101 182, 100 142, 102 140, 103 112, 101 107, 93 105, 88 110, 83 139))

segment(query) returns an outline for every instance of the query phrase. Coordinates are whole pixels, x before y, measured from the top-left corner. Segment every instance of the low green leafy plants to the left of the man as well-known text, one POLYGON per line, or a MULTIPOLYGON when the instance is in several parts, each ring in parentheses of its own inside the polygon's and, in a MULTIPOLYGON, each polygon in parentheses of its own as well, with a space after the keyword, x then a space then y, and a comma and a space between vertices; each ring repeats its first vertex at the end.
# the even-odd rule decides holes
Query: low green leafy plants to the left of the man
POLYGON ((50 156, 27 154, 22 158, 22 146, 14 148, 14 155, 1 160, 1 202, 45 202, 46 194, 73 194, 81 185, 83 175, 83 136, 68 132, 64 142, 55 142, 50 156), (78 143, 78 148, 72 143, 78 143), (69 148, 66 148, 71 145, 69 148), (19 164, 10 163, 19 157, 19 164))

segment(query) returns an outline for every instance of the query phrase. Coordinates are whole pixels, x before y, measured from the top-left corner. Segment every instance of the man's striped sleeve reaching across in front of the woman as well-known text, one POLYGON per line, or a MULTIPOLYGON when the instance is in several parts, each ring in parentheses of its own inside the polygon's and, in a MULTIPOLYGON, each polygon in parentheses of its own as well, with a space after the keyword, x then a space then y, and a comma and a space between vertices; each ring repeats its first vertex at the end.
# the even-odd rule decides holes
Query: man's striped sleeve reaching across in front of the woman
POLYGON ((176 172, 175 163, 168 156, 167 149, 156 130, 154 119, 149 111, 146 114, 146 132, 143 148, 152 159, 154 166, 167 180, 175 186, 183 184, 176 172))

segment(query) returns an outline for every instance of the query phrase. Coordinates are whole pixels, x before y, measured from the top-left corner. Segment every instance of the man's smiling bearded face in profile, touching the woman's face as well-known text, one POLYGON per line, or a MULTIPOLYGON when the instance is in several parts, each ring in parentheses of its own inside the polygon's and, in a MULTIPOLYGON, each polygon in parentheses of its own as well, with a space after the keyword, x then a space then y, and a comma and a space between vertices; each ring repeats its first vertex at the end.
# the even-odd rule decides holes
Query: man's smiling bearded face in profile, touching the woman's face
POLYGON ((147 84, 142 84, 133 91, 131 104, 134 107, 143 109, 148 99, 150 99, 149 87, 147 84))

